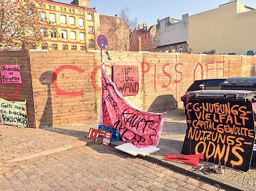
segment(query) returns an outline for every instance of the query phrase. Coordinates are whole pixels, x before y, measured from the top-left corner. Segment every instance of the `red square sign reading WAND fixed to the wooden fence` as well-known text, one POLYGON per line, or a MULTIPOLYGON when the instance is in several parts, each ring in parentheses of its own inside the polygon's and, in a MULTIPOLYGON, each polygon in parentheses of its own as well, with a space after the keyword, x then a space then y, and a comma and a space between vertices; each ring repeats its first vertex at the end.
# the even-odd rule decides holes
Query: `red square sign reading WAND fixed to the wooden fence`
POLYGON ((139 92, 139 67, 114 65, 113 82, 123 96, 137 95, 139 92))

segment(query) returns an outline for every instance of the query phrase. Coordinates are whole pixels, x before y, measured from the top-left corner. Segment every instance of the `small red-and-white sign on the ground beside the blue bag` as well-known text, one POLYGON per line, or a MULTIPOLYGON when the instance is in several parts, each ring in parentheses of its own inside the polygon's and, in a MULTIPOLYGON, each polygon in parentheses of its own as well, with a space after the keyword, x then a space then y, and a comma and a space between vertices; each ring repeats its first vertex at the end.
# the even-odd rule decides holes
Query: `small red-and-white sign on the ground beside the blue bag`
POLYGON ((91 128, 89 130, 87 138, 91 139, 91 140, 95 140, 99 136, 102 136, 102 138, 103 138, 103 141, 102 141, 101 145, 109 146, 110 140, 112 138, 112 133, 110 133, 108 131, 102 131, 102 130, 91 128))

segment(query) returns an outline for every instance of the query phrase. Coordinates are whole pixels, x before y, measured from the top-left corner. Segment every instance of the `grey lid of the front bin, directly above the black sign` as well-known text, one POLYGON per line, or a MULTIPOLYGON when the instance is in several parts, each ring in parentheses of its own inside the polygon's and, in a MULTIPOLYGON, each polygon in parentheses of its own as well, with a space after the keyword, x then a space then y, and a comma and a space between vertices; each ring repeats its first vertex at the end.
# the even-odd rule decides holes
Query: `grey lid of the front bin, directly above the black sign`
POLYGON ((248 90, 198 90, 187 92, 191 99, 247 99, 256 97, 256 91, 248 90))

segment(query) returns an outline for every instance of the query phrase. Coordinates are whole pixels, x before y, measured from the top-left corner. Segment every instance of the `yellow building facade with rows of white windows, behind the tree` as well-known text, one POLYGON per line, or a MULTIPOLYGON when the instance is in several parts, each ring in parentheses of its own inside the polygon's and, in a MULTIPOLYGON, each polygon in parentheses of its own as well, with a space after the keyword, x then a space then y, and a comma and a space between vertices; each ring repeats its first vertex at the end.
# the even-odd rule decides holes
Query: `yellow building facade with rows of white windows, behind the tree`
MULTIPOLYGON (((41 19, 49 20, 56 30, 41 29, 44 42, 37 49, 87 50, 95 49, 99 15, 90 0, 74 0, 72 4, 40 0, 41 19), (84 5, 84 6, 82 6, 84 5)), ((34 49, 33 47, 31 47, 34 49)))

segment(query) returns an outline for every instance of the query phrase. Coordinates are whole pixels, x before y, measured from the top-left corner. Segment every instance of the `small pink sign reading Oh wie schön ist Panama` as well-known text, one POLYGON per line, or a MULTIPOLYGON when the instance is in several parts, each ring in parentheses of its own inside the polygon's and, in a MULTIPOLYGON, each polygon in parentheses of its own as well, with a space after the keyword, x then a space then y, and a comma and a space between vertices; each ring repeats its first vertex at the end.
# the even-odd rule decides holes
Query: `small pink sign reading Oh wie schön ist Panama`
POLYGON ((21 84, 20 65, 2 65, 1 75, 3 84, 21 84))

